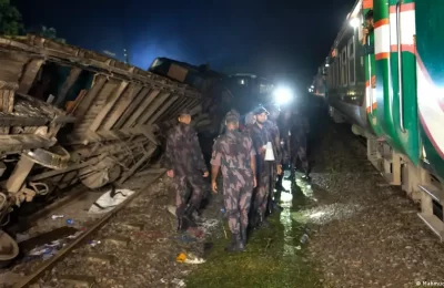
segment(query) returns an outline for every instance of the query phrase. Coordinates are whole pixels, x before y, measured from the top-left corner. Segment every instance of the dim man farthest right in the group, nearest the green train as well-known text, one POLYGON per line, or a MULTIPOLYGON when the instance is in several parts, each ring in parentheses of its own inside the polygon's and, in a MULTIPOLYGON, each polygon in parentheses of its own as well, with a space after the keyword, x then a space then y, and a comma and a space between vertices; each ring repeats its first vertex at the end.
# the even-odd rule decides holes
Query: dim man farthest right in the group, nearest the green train
POLYGON ((290 158, 291 158, 291 179, 295 177, 297 158, 304 169, 303 179, 310 179, 310 163, 306 154, 307 136, 310 125, 307 119, 296 109, 291 116, 290 126, 290 158))

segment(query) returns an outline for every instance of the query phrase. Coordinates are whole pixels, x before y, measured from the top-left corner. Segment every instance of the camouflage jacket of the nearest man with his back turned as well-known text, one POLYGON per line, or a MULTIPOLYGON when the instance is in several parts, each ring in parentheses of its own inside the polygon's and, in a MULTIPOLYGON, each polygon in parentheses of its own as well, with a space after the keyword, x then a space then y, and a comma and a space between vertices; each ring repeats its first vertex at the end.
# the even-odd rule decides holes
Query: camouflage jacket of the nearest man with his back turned
POLYGON ((215 140, 211 165, 221 166, 223 176, 226 176, 229 171, 252 173, 251 157, 255 154, 253 142, 248 135, 239 131, 229 131, 215 140))

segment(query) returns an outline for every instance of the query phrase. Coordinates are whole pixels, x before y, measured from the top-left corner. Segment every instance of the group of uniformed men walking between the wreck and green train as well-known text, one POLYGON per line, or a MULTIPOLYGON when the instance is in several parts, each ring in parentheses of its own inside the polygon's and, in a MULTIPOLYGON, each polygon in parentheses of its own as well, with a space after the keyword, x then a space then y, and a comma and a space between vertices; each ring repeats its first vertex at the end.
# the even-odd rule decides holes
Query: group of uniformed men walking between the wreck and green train
MULTIPOLYGON (((269 223, 265 217, 281 209, 273 196, 274 189, 276 195, 287 192, 282 186, 282 164, 290 164, 289 178, 294 179, 299 158, 305 172, 303 178, 310 179, 306 119, 292 110, 280 115, 281 110, 275 104, 269 111, 259 106, 245 116, 242 127, 240 114, 230 111, 224 119, 224 133, 213 144, 211 188, 213 193, 219 192, 216 179, 222 169, 224 206, 232 234, 228 251, 244 250, 248 228, 266 227, 269 223), (274 161, 265 160, 269 142, 274 161)), ((190 112, 183 110, 178 125, 167 138, 165 165, 176 191, 178 230, 185 229, 185 226, 196 226, 205 178, 210 175, 196 132, 190 122, 190 112), (191 194, 188 193, 189 187, 191 194)))

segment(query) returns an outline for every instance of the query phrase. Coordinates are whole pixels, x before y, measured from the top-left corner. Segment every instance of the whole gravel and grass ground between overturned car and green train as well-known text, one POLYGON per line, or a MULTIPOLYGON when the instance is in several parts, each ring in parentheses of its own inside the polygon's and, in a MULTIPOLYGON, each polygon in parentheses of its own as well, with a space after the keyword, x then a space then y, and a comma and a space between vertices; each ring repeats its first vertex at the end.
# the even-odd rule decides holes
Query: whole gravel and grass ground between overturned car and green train
MULTIPOLYGON (((204 229, 206 235, 178 235, 168 212, 174 191, 163 177, 92 239, 102 244, 79 247, 34 287, 69 287, 67 275, 94 277, 97 287, 119 288, 398 288, 444 282, 444 247, 416 216, 417 208, 384 185, 349 128, 329 124, 324 131, 313 151, 311 184, 284 182, 292 189, 281 195, 284 210, 270 218, 271 228, 252 234, 245 253, 224 251, 221 195, 204 212, 212 227, 204 229), (309 240, 301 244, 304 233, 309 240), (104 244, 113 235, 124 235, 130 243, 104 244), (205 263, 176 263, 180 253, 193 253, 205 263), (94 255, 111 258, 97 261, 94 255)), ((142 187, 143 178, 139 181, 142 187)))

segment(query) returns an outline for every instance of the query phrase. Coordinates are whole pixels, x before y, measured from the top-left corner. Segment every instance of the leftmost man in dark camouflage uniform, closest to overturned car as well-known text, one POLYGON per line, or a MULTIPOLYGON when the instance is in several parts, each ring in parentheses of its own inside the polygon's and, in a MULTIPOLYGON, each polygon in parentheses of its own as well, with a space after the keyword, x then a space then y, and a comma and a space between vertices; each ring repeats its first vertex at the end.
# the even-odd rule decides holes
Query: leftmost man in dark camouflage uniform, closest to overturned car
POLYGON ((200 207, 205 186, 203 177, 209 176, 198 133, 190 126, 190 112, 183 110, 179 115, 178 125, 172 128, 167 138, 165 167, 168 176, 173 178, 176 191, 178 230, 185 229, 185 222, 195 226, 192 214, 200 207), (192 192, 188 202, 189 186, 192 192))

